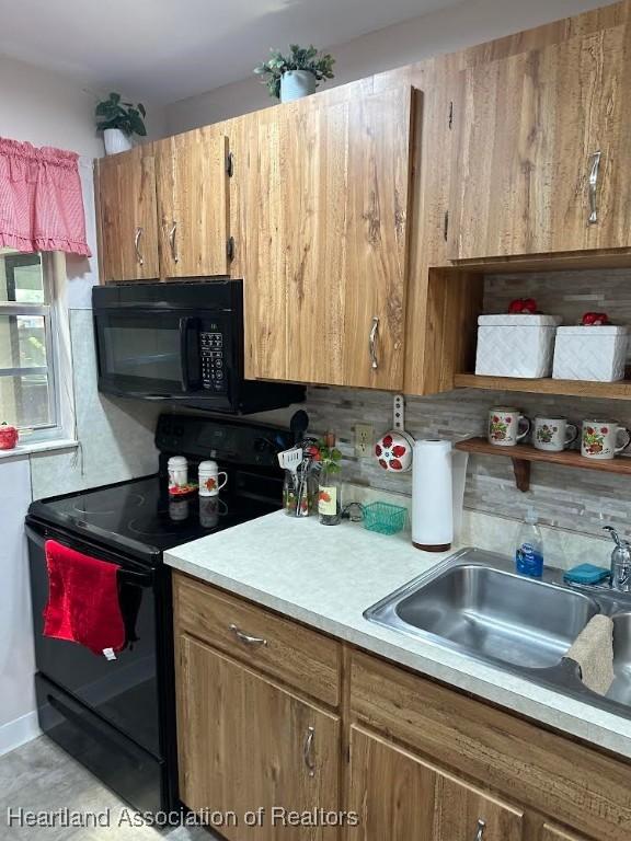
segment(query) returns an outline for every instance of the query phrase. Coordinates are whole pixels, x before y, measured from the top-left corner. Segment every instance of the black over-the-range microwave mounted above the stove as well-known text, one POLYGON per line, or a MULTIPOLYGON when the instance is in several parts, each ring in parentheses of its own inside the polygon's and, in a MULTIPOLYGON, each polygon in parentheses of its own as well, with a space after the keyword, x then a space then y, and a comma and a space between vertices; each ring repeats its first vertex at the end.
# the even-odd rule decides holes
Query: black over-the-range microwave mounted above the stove
POLYGON ((92 290, 99 391, 246 414, 305 388, 243 378, 243 281, 122 284, 92 290))

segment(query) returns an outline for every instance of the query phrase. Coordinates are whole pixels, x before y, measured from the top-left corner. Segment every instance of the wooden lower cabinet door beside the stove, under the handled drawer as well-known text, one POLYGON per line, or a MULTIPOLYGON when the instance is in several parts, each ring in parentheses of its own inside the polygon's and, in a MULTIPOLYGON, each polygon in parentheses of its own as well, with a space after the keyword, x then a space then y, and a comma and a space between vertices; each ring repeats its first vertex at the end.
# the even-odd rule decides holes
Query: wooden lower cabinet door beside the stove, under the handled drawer
POLYGON ((188 636, 179 637, 180 796, 193 810, 234 811, 230 841, 318 841, 335 828, 286 827, 273 807, 337 810, 340 719, 188 636), (262 826, 244 826, 264 809, 262 826))

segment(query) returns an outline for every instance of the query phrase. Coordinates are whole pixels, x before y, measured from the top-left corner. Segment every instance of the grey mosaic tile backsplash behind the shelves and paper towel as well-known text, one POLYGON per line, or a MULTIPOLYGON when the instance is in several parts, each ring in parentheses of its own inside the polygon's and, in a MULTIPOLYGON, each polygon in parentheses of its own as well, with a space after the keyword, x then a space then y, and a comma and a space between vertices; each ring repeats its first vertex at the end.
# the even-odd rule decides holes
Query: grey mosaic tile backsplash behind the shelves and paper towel
MULTIPOLYGON (((505 312, 518 297, 536 298, 539 308, 577 323, 584 312, 606 311, 612 321, 631 325, 631 270, 581 270, 490 276, 485 283, 485 311, 505 312)), ((550 413, 578 423, 587 417, 617 419, 631 428, 631 402, 554 395, 458 390, 428 398, 409 396, 405 427, 415 438, 459 440, 484 435, 491 406, 504 404, 527 415, 550 413)), ((375 426, 376 435, 392 426, 392 394, 356 389, 311 388, 306 410, 311 429, 333 429, 345 456, 345 479, 375 488, 411 494, 412 475, 381 470, 376 460, 354 456, 353 427, 375 426)), ((471 457, 464 505, 469 509, 521 519, 535 505, 541 520, 571 531, 597 535, 604 525, 628 529, 631 520, 631 482, 626 476, 553 464, 532 464, 530 491, 515 487, 509 459, 471 457)))

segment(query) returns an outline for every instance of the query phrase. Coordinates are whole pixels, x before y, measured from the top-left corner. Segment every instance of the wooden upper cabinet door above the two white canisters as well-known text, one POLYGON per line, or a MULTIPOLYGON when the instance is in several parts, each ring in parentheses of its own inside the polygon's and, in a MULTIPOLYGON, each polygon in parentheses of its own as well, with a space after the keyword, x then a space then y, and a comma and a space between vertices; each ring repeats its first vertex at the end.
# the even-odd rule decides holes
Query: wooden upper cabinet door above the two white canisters
POLYGON ((631 246, 627 24, 462 71, 450 257, 631 246))

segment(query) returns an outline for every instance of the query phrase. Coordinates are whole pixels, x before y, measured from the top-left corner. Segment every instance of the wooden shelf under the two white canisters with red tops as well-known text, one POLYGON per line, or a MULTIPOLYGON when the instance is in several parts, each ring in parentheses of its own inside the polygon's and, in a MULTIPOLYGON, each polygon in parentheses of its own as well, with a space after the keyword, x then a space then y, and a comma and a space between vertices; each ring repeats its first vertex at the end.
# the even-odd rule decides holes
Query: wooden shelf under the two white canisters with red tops
POLYGON ((631 400, 631 380, 594 382, 589 380, 553 380, 550 377, 542 380, 526 380, 518 377, 481 377, 477 373, 457 373, 454 383, 457 389, 486 389, 490 391, 520 391, 529 394, 560 394, 572 398, 631 400))

